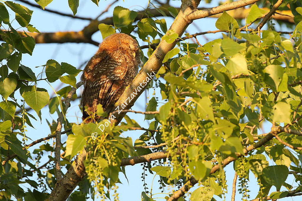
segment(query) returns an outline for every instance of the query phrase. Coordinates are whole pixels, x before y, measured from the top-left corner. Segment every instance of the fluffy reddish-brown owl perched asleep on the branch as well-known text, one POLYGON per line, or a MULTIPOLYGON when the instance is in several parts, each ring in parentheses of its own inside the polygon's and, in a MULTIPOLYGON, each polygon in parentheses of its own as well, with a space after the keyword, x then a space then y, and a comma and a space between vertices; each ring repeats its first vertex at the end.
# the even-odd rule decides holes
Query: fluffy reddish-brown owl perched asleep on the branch
POLYGON ((108 114, 114 111, 114 103, 137 75, 140 65, 136 40, 124 33, 114 33, 106 37, 88 61, 81 77, 84 83, 82 119, 86 123, 93 121, 87 118, 89 115, 85 107, 95 113, 97 105, 101 104, 108 114))

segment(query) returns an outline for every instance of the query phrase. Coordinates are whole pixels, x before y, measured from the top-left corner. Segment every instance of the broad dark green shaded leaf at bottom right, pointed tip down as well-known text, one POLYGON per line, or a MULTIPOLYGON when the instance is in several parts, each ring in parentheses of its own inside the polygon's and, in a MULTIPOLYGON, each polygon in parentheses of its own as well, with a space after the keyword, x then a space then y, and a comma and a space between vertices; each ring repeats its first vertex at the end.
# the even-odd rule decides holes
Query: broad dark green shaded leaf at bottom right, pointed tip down
POLYGON ((271 185, 274 185, 277 190, 280 190, 282 184, 288 176, 288 168, 285 165, 268 166, 263 169, 262 177, 271 185))

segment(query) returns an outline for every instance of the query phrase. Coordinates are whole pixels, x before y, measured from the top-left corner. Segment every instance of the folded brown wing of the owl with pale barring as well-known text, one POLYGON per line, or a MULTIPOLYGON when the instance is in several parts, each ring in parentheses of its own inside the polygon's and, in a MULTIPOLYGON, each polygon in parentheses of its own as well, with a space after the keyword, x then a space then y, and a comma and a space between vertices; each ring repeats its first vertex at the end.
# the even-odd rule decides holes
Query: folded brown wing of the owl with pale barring
POLYGON ((87 106, 92 112, 96 111, 97 104, 101 104, 104 111, 109 112, 111 108, 108 106, 122 86, 126 72, 127 63, 122 53, 117 51, 113 55, 100 59, 91 70, 91 74, 94 75, 93 79, 85 79, 84 76, 81 104, 87 106))

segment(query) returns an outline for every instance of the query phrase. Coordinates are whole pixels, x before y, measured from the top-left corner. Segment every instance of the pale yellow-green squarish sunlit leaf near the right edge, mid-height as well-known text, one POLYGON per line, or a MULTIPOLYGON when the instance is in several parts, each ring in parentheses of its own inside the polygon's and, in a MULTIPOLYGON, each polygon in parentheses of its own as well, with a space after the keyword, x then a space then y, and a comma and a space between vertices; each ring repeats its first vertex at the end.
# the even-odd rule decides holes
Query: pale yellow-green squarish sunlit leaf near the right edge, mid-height
POLYGON ((291 105, 287 102, 278 102, 274 105, 273 109, 273 121, 291 123, 291 105))

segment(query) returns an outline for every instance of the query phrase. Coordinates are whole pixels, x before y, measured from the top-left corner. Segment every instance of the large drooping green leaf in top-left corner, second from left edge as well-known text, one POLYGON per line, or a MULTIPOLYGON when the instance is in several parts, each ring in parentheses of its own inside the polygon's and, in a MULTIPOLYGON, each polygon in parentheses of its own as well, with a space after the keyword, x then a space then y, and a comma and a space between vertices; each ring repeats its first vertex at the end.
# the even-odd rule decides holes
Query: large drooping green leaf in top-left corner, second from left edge
POLYGON ((22 27, 26 27, 29 24, 33 11, 14 2, 6 1, 5 4, 16 13, 16 20, 22 27))

